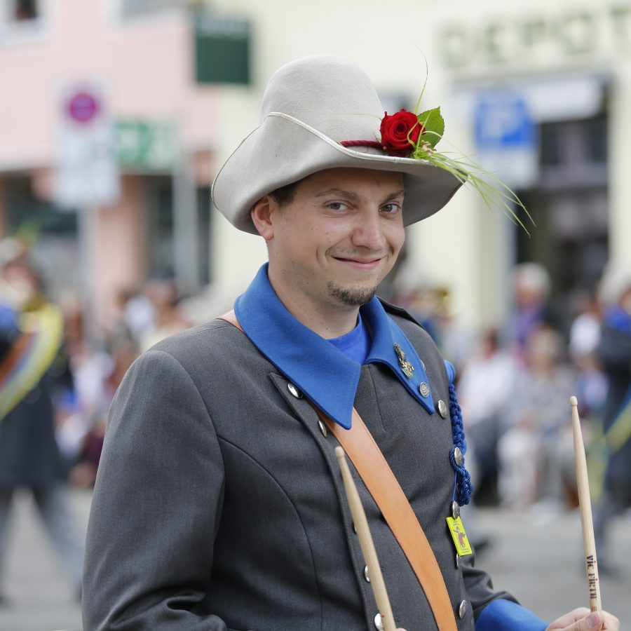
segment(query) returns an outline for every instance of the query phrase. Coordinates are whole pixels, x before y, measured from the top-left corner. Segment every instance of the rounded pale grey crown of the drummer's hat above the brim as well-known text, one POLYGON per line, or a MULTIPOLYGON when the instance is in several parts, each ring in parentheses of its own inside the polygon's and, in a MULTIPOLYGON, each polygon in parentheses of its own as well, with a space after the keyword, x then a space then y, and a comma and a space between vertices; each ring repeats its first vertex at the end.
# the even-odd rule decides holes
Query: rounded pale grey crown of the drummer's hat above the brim
POLYGON ((278 69, 263 96, 261 123, 281 112, 331 140, 379 140, 384 109, 372 82, 339 55, 303 57, 278 69))

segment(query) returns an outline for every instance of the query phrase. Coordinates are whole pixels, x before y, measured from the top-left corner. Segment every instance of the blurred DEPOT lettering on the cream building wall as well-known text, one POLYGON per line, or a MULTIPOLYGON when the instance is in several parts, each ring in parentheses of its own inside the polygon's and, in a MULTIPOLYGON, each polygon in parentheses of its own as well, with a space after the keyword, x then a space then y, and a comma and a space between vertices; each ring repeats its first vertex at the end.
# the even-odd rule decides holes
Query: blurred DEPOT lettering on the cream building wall
POLYGON ((454 69, 480 62, 512 65, 547 55, 631 55, 631 4, 498 18, 480 26, 451 22, 440 29, 439 37, 443 61, 454 69))

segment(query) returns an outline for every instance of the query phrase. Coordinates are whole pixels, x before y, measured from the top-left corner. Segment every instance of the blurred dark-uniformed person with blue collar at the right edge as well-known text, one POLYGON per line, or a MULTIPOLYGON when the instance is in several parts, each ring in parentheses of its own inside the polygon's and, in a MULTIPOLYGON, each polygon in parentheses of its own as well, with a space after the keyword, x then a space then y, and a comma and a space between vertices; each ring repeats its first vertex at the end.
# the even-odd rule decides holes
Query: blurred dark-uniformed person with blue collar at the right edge
POLYGON ((602 425, 606 468, 594 532, 599 569, 616 574, 620 569, 612 567, 606 534, 611 520, 631 506, 631 268, 609 264, 600 295, 604 312, 598 356, 609 388, 602 425))

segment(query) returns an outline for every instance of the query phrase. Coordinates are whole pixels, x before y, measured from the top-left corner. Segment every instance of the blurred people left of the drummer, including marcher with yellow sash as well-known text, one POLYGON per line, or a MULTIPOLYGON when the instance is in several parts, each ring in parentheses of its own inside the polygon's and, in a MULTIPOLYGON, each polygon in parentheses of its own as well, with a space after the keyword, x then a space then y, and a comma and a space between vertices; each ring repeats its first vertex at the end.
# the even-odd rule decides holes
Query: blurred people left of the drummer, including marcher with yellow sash
POLYGON ((0 606, 11 604, 4 567, 24 490, 81 598, 83 537, 69 489, 95 482, 116 388, 140 353, 222 312, 212 294, 184 300, 172 280, 154 279, 118 294, 100 326, 86 326, 77 294, 48 295, 30 247, 0 242, 0 606))

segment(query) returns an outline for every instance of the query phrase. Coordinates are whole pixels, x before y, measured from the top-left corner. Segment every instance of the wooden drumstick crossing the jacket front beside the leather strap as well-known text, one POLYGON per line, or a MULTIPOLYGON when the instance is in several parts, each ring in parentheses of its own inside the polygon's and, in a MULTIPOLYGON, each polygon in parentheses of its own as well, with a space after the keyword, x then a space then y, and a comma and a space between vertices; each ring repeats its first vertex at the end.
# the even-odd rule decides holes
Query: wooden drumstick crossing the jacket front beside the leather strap
POLYGON ((366 519, 366 513, 362 506, 357 487, 353 482, 353 476, 351 470, 348 468, 346 462, 346 454, 341 447, 335 447, 335 455, 339 462, 339 468, 342 474, 342 480, 344 480, 344 489, 346 490, 346 498, 348 499, 348 506, 351 508, 351 515, 353 515, 353 522, 357 529, 357 535, 360 540, 362 552, 366 565, 368 566, 368 575, 370 577, 370 586, 372 587, 372 593, 374 599, 381 613, 381 623, 384 625, 384 631, 396 631, 395 622, 392 615, 392 608, 390 606, 390 599, 388 598, 388 592, 386 592, 386 583, 384 583, 384 576, 381 574, 381 566, 379 566, 379 559, 374 549, 374 543, 368 527, 368 520, 366 519))

